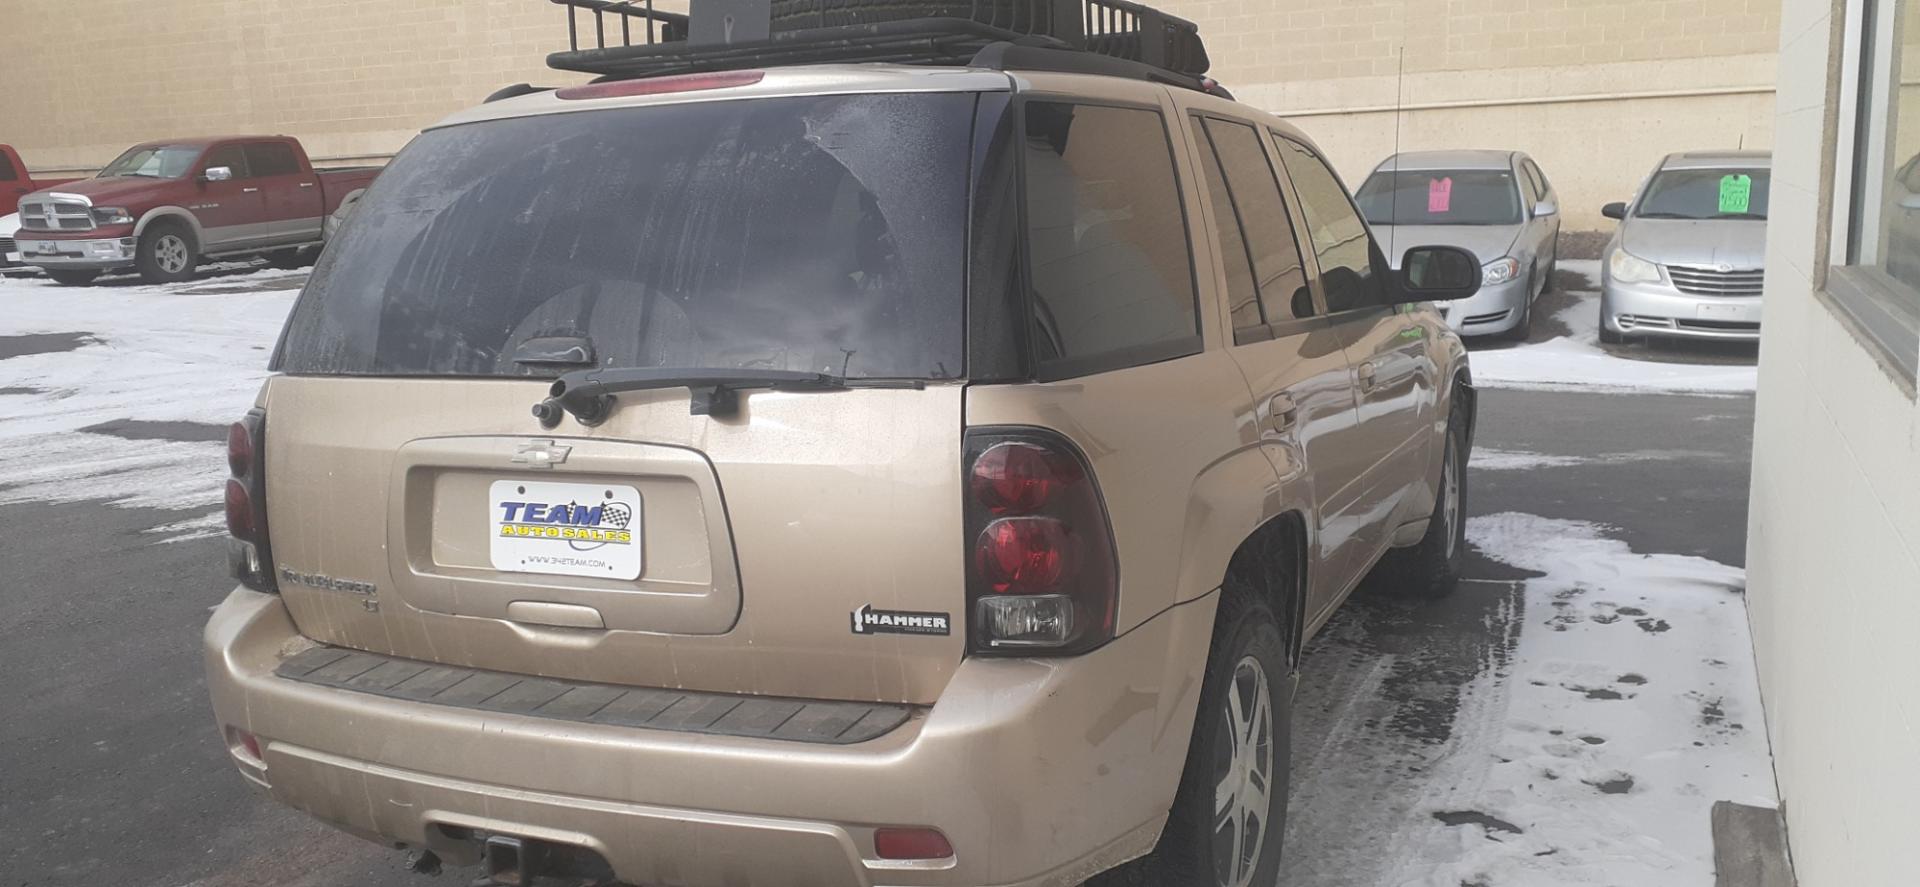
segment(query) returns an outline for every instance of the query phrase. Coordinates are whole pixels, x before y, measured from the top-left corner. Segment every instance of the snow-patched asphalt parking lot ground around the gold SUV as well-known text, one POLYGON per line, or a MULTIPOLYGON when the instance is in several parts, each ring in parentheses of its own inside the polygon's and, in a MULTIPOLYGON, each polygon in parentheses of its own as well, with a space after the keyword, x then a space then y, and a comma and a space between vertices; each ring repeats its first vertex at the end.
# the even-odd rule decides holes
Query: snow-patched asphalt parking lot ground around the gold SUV
MULTIPOLYGON (((1772 804, 1745 628, 1753 349, 1601 348, 1594 263, 1476 346, 1473 559, 1306 653, 1288 885, 1701 885, 1715 801, 1772 804)), ((0 280, 0 847, 10 885, 403 885, 397 852, 227 764, 225 422, 303 271, 0 280)), ((457 875, 440 883, 465 883, 457 875)))

